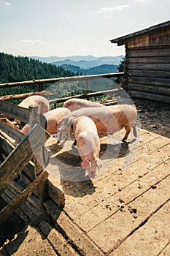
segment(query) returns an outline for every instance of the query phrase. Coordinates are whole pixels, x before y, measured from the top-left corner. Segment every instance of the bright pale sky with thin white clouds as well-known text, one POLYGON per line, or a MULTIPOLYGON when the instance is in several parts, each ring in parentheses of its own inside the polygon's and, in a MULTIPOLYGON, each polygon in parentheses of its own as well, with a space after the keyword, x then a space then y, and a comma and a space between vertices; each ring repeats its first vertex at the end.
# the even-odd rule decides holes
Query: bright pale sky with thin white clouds
POLYGON ((109 40, 170 19, 170 0, 0 0, 0 52, 119 56, 109 40))

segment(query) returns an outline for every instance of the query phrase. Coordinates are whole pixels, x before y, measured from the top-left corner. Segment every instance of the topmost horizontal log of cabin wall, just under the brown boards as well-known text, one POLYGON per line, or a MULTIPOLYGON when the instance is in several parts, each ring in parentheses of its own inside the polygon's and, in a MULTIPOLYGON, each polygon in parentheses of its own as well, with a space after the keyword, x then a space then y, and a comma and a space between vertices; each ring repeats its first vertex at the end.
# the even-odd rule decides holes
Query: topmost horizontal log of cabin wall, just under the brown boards
POLYGON ((158 56, 170 56, 170 48, 165 49, 138 49, 138 50, 129 50, 127 49, 128 57, 158 57, 158 56))

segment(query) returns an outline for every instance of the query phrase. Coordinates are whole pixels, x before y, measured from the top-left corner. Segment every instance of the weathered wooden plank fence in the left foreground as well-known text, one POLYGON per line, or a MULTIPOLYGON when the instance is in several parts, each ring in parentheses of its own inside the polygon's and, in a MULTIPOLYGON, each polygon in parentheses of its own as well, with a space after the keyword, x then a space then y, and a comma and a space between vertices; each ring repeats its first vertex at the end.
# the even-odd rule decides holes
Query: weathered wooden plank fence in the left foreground
POLYGON ((64 195, 47 180, 49 156, 44 144, 50 135, 39 125, 38 106, 26 109, 0 101, 0 109, 4 116, 31 125, 23 135, 8 118, 0 118, 0 196, 8 203, 0 211, 1 225, 14 211, 25 221, 32 220, 48 197, 63 205, 64 195), (17 146, 12 145, 15 140, 17 146))

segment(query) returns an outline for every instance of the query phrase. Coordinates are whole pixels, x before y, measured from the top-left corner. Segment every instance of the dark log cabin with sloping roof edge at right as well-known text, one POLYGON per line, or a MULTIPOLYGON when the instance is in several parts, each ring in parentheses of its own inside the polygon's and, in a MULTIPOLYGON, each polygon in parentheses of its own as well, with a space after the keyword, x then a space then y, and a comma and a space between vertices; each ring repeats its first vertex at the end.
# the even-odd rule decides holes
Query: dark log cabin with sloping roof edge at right
POLYGON ((134 99, 170 103, 170 24, 164 25, 111 41, 125 45, 123 88, 134 99))

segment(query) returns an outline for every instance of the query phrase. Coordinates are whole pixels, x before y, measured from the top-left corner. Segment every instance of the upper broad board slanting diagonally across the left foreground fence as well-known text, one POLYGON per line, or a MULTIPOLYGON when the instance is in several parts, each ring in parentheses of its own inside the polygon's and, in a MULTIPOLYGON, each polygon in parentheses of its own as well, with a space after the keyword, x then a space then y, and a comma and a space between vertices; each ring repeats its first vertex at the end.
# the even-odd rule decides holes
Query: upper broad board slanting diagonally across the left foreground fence
POLYGON ((0 195, 34 156, 50 135, 36 124, 9 156, 0 165, 0 195), (11 170, 12 169, 12 170, 11 170))

